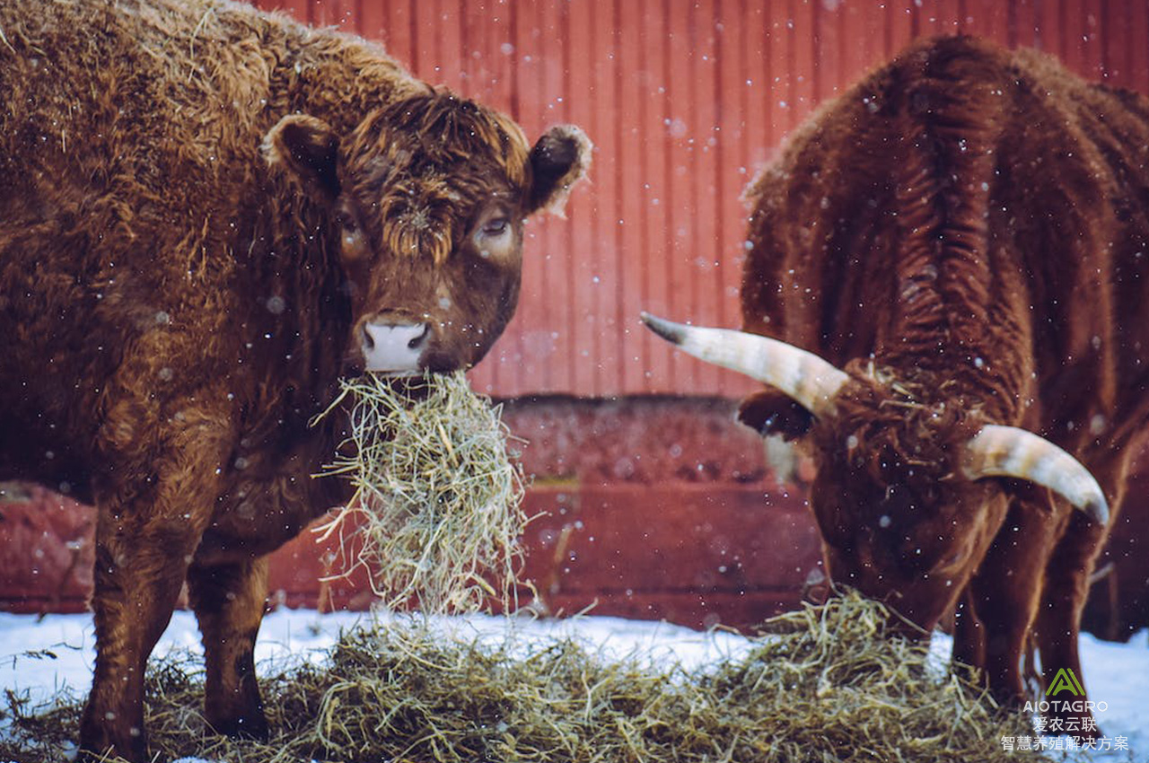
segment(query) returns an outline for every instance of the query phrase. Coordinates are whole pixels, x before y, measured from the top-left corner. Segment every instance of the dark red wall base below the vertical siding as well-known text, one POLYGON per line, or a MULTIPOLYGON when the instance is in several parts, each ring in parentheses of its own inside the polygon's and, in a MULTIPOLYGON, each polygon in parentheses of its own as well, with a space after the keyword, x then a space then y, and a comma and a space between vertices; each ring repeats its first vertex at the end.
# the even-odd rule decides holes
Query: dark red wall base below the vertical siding
MULTIPOLYGON (((554 615, 589 610, 691 626, 753 629, 819 584, 817 530, 800 484, 779 486, 761 440, 720 399, 516 400, 533 479, 525 576, 554 615)), ((1090 629, 1149 624, 1149 462, 1142 458, 1094 587, 1090 629)), ((93 511, 38 487, 0 496, 0 609, 80 611, 92 584, 93 511), (21 492, 22 491, 22 492, 21 492)), ((272 556, 271 602, 363 609, 362 570, 304 531, 272 556)), ((530 596, 524 592, 523 603, 530 596)))

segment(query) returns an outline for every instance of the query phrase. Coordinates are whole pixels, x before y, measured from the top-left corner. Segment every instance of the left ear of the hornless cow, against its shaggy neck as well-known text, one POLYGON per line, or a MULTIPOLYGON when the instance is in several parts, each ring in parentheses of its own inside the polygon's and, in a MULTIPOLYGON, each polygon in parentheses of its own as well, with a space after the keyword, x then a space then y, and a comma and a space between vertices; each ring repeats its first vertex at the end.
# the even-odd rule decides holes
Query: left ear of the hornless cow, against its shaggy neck
POLYGON ((323 120, 306 114, 279 120, 263 139, 263 157, 293 172, 322 201, 339 195, 339 138, 323 120))

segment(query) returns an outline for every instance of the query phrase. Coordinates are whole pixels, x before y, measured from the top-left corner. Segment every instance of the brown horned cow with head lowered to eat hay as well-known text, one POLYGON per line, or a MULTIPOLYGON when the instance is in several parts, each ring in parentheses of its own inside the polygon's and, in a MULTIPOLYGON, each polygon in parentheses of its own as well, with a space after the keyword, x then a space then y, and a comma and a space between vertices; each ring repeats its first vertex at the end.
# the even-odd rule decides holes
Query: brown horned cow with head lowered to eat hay
POLYGON ((1149 414, 1149 100, 1034 52, 918 43, 749 198, 750 333, 648 322, 770 386, 745 423, 805 434, 836 581, 925 629, 957 607, 956 656, 1008 700, 1031 633, 1047 681, 1080 677, 1149 414))

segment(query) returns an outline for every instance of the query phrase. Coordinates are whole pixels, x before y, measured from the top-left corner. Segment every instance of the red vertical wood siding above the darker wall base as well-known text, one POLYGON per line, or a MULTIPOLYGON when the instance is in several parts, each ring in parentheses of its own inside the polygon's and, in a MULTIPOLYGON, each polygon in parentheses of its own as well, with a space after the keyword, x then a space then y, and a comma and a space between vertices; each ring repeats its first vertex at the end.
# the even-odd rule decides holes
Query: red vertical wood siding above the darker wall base
POLYGON ((1146 0, 257 0, 383 40, 424 79, 509 111, 533 139, 574 122, 592 184, 532 221, 517 316, 473 372, 500 396, 738 395, 641 309, 738 325, 755 170, 823 99, 910 39, 970 32, 1149 92, 1146 0), (722 386, 719 386, 722 385, 722 386))

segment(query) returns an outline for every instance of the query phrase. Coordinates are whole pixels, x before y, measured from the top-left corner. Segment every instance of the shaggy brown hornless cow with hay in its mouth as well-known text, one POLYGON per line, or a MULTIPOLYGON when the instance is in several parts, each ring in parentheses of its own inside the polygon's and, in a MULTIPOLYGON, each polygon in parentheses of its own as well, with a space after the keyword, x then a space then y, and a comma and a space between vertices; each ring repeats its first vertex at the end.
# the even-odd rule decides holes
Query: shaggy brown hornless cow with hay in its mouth
POLYGON ((0 103, 0 477, 98 507, 82 746, 146 757, 185 579, 207 718, 263 735, 265 555, 347 499, 309 419, 341 375, 478 362, 589 144, 228 0, 5 0, 0 103))

